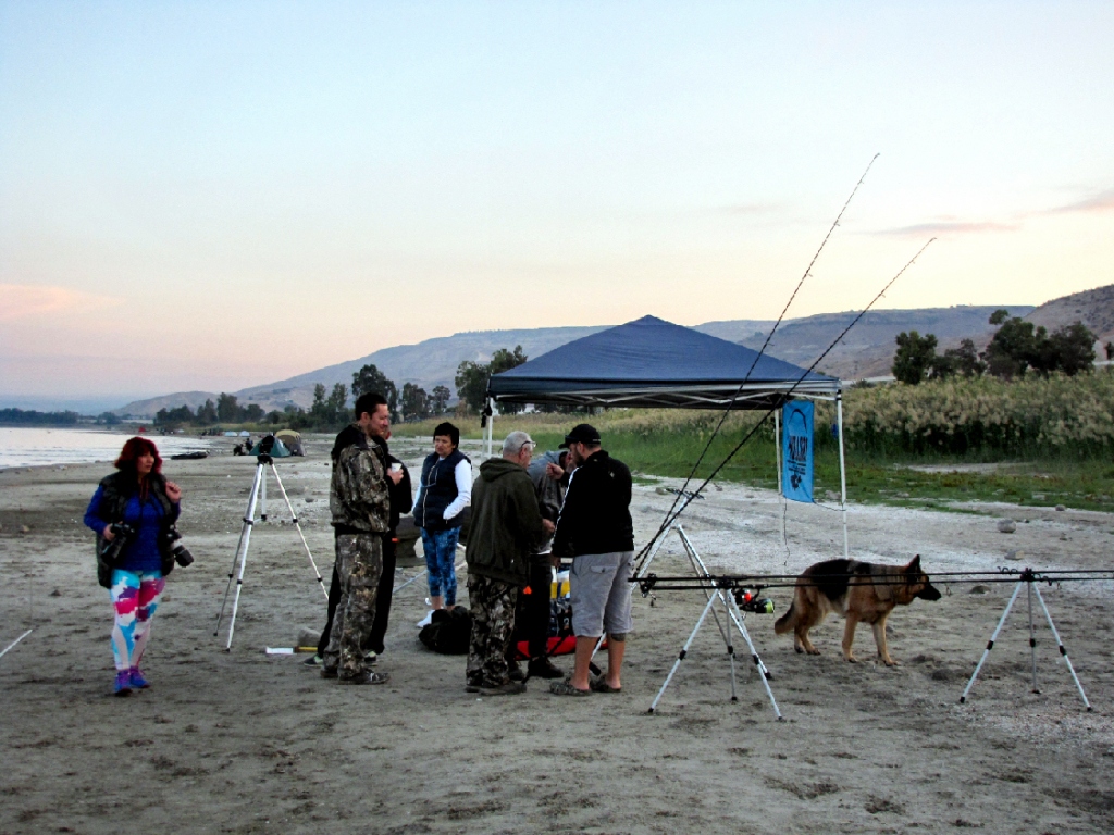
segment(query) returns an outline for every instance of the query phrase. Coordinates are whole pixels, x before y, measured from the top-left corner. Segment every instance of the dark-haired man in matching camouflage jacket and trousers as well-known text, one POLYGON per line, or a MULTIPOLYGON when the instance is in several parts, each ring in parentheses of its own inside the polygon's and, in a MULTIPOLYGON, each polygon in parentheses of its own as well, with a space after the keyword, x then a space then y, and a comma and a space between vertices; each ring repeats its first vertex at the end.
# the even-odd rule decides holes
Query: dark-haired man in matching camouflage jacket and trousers
POLYGON ((375 593, 383 572, 383 536, 390 528, 388 479, 398 483, 400 472, 390 472, 378 439, 391 426, 387 400, 377 393, 360 396, 356 422, 336 435, 329 509, 336 542, 336 573, 341 599, 333 618, 321 675, 338 684, 378 685, 385 672, 371 672, 363 645, 375 619, 375 593))

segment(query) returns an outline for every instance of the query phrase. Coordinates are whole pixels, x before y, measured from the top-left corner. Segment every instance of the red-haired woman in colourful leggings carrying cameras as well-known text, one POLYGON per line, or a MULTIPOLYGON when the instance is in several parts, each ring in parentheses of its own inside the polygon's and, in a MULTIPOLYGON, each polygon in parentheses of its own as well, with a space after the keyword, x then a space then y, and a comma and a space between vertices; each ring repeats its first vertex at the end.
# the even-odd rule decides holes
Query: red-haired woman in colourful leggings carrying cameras
POLYGON ((146 438, 133 438, 116 459, 118 472, 104 479, 85 512, 85 523, 97 534, 97 579, 109 590, 116 619, 113 656, 117 696, 145 689, 139 661, 150 636, 150 619, 174 568, 167 536, 178 518, 182 490, 162 473, 163 459, 146 438), (128 532, 116 525, 127 525, 128 532), (113 554, 106 548, 126 536, 113 554))

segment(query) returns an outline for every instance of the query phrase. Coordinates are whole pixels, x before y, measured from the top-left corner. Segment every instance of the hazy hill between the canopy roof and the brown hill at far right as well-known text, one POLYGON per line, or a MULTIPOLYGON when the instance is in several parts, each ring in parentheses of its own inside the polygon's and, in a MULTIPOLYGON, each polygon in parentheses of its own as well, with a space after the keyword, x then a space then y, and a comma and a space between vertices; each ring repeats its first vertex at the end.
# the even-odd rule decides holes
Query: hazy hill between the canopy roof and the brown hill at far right
MULTIPOLYGON (((885 376, 890 373, 893 362, 893 351, 897 347, 893 340, 902 331, 936 334, 940 345, 938 350, 941 352, 955 347, 962 338, 974 340, 981 346, 995 331, 988 320, 999 307, 1005 307, 1015 316, 1024 316, 1034 310, 1032 305, 962 305, 913 311, 870 311, 832 348, 817 370, 842 380, 885 376)), ((780 360, 809 367, 857 315, 858 311, 821 313, 783 322, 766 352, 780 360)), ((759 348, 764 340, 765 334, 762 334, 740 342, 747 347, 759 348)))

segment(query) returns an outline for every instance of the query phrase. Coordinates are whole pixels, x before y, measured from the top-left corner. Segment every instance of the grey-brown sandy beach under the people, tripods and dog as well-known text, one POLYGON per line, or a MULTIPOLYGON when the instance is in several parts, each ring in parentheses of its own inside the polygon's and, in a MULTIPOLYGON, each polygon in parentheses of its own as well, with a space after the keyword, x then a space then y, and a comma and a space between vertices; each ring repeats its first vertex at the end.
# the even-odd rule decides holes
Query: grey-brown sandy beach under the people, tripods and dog
MULTIPOLYGON (((509 424, 509 421, 508 421, 509 424)), ((507 429, 510 426, 508 425, 507 429)), ((326 573, 328 439, 280 462, 326 573)), ((231 446, 231 442, 228 444, 231 446)), ((465 444, 473 453, 475 444, 465 444)), ((424 443, 395 439, 412 469, 424 443)), ((1105 833, 1114 829, 1114 603, 1110 584, 1042 589, 1087 696, 1085 713, 1038 621, 1040 692, 1030 691, 1024 595, 968 704, 959 695, 1013 584, 955 586, 890 619, 874 659, 860 627, 849 665, 842 623, 813 631, 820 657, 749 615, 784 720, 775 720, 742 641, 739 701, 710 622, 666 691, 655 694, 703 606, 701 592, 635 597, 624 691, 517 697, 463 690, 463 658, 417 641, 424 584, 398 593, 379 669, 383 687, 336 687, 274 657, 324 599, 273 482, 252 539, 231 652, 213 631, 247 503, 254 459, 167 461, 184 492, 179 528, 197 561, 168 580, 145 659, 153 687, 113 698, 110 608, 81 515, 104 464, 0 472, 0 832, 370 833, 1105 833), (27 532, 22 529, 26 527, 27 532), (977 593, 976 593, 977 592, 977 593), (653 605, 652 605, 653 603, 653 605)), ((635 488, 641 547, 672 495, 635 488)), ((852 497, 853 498, 853 497, 852 497)), ((852 505, 851 553, 926 570, 1108 568, 1114 517, 970 507, 936 513, 852 505), (999 533, 997 520, 1017 520, 999 533), (1020 559, 1006 561, 1006 552, 1020 559), (1017 554, 1015 554, 1017 556, 1017 554)), ((842 556, 839 514, 792 505, 782 538, 773 493, 723 485, 683 523, 716 572, 797 572, 842 556)), ((688 572, 676 537, 655 562, 688 572)), ((417 571, 401 569, 395 583, 417 571)), ((772 593, 779 612, 788 590, 772 593)), ((558 665, 570 668, 568 658, 558 665)))

